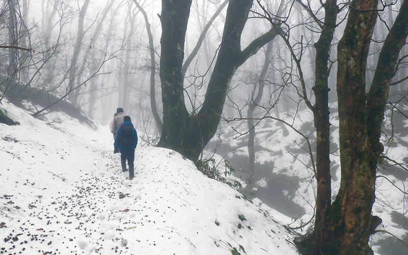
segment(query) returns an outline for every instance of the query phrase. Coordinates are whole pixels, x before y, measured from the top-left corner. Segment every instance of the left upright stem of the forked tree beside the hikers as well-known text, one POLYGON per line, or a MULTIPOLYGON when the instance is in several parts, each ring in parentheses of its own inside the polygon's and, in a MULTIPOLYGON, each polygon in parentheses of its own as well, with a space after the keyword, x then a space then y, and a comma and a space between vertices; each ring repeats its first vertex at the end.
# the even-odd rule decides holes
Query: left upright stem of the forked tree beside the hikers
MULTIPOLYGON (((187 22, 192 0, 162 0, 160 80, 163 102, 163 130, 158 146, 179 151, 189 143, 189 113, 184 105, 182 65, 187 22)), ((191 153, 189 154, 191 155, 191 153)), ((191 157, 188 157, 191 158, 191 157)))

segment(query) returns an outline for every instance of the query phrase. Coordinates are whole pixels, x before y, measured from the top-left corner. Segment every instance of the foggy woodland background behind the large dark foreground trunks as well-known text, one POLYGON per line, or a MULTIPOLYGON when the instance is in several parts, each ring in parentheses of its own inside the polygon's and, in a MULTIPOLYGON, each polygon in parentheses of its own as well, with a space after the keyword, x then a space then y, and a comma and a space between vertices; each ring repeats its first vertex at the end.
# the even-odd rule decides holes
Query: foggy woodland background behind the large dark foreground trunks
MULTIPOLYGON (((402 3, 378 3, 366 63, 366 92, 402 3)), ((334 30, 326 75, 332 200, 341 179, 337 46, 346 27, 349 4, 337 2, 337 19, 329 28, 334 30)), ((5 0, 0 6, 0 100, 6 98, 40 119, 49 111, 63 111, 89 125, 92 121, 109 125, 121 107, 132 117, 142 145, 159 142, 165 124, 160 80, 162 1, 5 0)), ((227 8, 227 0, 192 1, 182 66, 184 101, 191 115, 200 111, 205 100, 223 43, 227 8)), ((316 43, 325 31, 324 17, 319 1, 253 1, 239 42, 241 49, 272 28, 278 27, 279 33, 237 65, 217 132, 202 154, 219 162, 227 160, 236 179, 245 184, 241 192, 294 218, 293 227, 314 217, 316 130, 311 109, 316 104, 314 86, 318 87, 316 43), (281 147, 267 143, 269 138, 280 140, 281 147), (288 157, 291 160, 279 161, 288 157)), ((393 155, 389 148, 404 146, 406 154, 408 147, 408 138, 404 140, 408 135, 404 130, 408 118, 407 56, 405 43, 391 80, 382 125, 384 158, 390 161, 378 167, 377 173, 395 171, 398 187, 403 187, 401 182, 406 184, 406 156, 393 155)), ((402 198, 395 204, 380 199, 385 207, 392 208, 390 222, 404 231, 397 234, 387 226, 385 229, 408 244, 408 207, 403 203, 407 191, 398 189, 402 198)), ((311 230, 313 225, 304 228, 311 230)), ((408 252, 390 235, 374 241, 382 245, 377 249, 380 254, 408 252), (400 248, 388 253, 384 247, 389 245, 400 248)))

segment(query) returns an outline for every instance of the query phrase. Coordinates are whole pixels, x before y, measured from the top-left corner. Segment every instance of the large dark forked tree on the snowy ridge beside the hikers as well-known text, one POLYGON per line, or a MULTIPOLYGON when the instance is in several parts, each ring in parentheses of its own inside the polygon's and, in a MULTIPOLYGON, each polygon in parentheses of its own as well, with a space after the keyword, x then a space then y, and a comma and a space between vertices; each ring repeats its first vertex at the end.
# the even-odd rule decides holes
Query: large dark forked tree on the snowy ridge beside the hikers
POLYGON ((174 149, 196 161, 214 136, 224 106, 228 84, 237 68, 271 41, 276 30, 252 41, 241 50, 241 34, 252 0, 228 4, 222 43, 200 111, 190 115, 185 107, 182 63, 191 0, 162 0, 160 79, 162 81, 163 130, 158 146, 174 149))

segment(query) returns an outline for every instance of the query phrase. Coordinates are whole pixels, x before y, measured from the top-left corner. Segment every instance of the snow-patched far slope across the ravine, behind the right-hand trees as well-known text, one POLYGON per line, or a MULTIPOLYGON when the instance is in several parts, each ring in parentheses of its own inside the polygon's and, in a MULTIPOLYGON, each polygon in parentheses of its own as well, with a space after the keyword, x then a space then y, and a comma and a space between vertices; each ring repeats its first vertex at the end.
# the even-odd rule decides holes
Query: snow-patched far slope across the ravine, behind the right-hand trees
MULTIPOLYGON (((338 141, 338 117, 337 105, 330 107, 330 174, 332 178, 333 200, 340 186, 340 157, 338 141)), ((408 120, 405 116, 394 113, 393 125, 389 120, 391 112, 387 112, 387 120, 383 127, 384 136, 381 137, 384 153, 395 162, 406 165, 408 157, 408 120), (393 136, 391 137, 391 132, 393 136), (388 141, 390 140, 390 141, 388 141)), ((313 127, 313 115, 309 110, 295 113, 281 114, 281 118, 287 123, 309 137, 311 147, 315 148, 315 129, 313 127), (294 118, 294 116, 296 116, 294 118)), ((237 175, 246 179, 248 168, 247 135, 239 136, 247 131, 245 121, 231 122, 224 128, 219 129, 223 142, 226 158, 236 169, 237 175), (234 129, 231 129, 231 126, 234 129), (228 129, 229 127, 229 129, 228 129), (221 133, 224 132, 224 133, 221 133), (238 138, 236 138, 238 137, 238 138), (236 139, 234 139, 236 138, 236 139)), ((303 137, 296 133, 288 125, 281 122, 265 119, 256 127, 256 189, 253 193, 266 205, 280 213, 297 219, 297 223, 291 226, 309 222, 314 214, 314 201, 316 193, 316 180, 308 146, 303 137)), ((408 194, 408 171, 401 168, 390 160, 387 164, 379 167, 376 182, 376 200, 373 205, 373 215, 382 219, 382 224, 377 228, 379 231, 370 239, 370 246, 381 255, 406 255, 408 254, 408 217, 406 216, 408 194), (386 233, 389 232, 389 233, 386 233), (392 236, 394 235, 394 236, 392 236), (398 241, 395 237, 403 241, 398 241)), ((307 231, 309 224, 303 228, 307 231)), ((298 230, 300 232, 300 230, 298 230)))

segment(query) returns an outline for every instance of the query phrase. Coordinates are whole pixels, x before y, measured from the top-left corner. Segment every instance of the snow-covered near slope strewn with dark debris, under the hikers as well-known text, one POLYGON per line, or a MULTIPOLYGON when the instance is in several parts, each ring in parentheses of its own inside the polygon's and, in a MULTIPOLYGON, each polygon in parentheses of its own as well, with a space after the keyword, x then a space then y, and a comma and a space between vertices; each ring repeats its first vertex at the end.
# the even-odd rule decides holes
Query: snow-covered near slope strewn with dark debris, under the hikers
POLYGON ((139 145, 130 180, 108 127, 2 103, 0 253, 298 254, 291 219, 176 152, 139 145))

